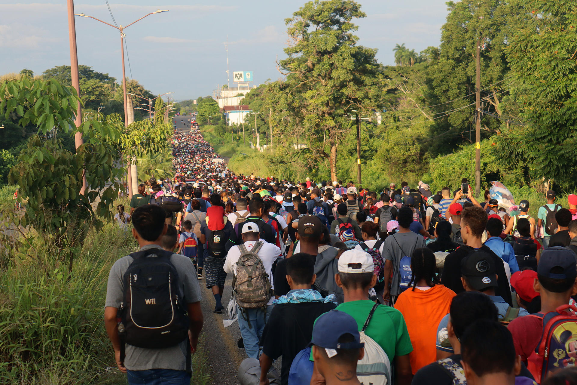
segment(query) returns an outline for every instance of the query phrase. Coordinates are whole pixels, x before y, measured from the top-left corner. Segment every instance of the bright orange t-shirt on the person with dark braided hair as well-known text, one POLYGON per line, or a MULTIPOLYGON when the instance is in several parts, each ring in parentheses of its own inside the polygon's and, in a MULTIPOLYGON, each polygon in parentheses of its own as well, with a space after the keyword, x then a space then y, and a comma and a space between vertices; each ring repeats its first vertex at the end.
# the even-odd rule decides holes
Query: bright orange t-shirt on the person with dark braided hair
POLYGON ((399 294, 395 309, 403 314, 413 344, 413 352, 409 354, 413 374, 437 360, 437 327, 449 313, 455 296, 454 291, 443 285, 415 291, 409 287, 399 294))

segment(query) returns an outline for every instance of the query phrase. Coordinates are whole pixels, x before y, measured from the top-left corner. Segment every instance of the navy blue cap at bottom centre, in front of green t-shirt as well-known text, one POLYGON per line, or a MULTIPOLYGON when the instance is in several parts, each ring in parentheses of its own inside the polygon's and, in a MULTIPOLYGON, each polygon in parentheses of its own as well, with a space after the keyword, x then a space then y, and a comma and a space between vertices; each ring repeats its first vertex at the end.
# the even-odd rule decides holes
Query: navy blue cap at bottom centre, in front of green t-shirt
POLYGON ((316 345, 325 349, 359 349, 365 346, 361 342, 357 321, 342 311, 331 310, 324 313, 313 326, 313 338, 309 346, 316 345), (339 343, 344 334, 352 334, 353 342, 339 343))

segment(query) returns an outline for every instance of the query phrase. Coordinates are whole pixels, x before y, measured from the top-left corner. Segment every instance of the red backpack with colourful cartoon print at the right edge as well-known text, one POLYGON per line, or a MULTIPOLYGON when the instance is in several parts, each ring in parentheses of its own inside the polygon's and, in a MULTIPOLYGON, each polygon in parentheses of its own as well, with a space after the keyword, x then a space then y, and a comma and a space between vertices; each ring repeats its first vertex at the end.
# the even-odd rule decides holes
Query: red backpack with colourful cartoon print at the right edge
POLYGON ((549 373, 574 365, 577 360, 577 316, 566 312, 568 309, 577 312, 575 306, 563 305, 554 312, 527 316, 543 319, 541 341, 527 358, 527 369, 537 383, 549 373))

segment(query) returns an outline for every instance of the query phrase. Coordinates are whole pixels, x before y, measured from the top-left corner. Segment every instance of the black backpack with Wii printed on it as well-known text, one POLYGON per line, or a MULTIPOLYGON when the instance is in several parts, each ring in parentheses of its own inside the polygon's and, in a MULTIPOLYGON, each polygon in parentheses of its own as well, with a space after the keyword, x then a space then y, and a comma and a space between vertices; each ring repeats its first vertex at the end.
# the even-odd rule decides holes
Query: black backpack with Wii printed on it
MULTIPOLYGON (((130 254, 134 259, 123 276, 121 360, 124 345, 162 349, 188 339, 189 317, 178 272, 170 262, 173 253, 151 248, 130 254), (154 254, 156 257, 148 257, 154 254)), ((187 368, 190 365, 188 358, 187 368)), ((188 370, 188 369, 187 369, 188 370)))

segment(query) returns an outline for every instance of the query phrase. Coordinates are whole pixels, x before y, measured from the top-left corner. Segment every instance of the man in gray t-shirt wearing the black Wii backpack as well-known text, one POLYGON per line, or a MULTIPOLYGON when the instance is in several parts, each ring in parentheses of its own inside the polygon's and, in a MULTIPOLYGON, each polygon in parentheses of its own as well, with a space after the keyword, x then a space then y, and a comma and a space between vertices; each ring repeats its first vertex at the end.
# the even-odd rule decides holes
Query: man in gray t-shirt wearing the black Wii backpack
MULTIPOLYGON (((166 233, 164 211, 156 205, 143 205, 134 210, 132 230, 134 238, 140 245, 140 250, 161 248, 160 240, 166 233)), ((151 254, 148 257, 153 257, 151 254)), ((186 372, 186 349, 196 352, 198 335, 203 327, 203 313, 200 308, 200 286, 192 261, 185 256, 173 254, 170 262, 178 271, 178 282, 181 286, 188 316, 190 319, 189 339, 175 346, 162 349, 145 349, 132 345, 125 347, 125 360, 120 360, 120 341, 117 333, 117 312, 123 301, 123 276, 132 263, 131 256, 124 256, 117 260, 110 269, 108 285, 106 287, 106 304, 104 305, 104 323, 108 337, 113 344, 118 368, 128 372, 129 384, 143 384, 144 380, 162 376, 173 383, 188 384, 190 374, 186 372), (187 382, 188 379, 188 382, 187 382)))

